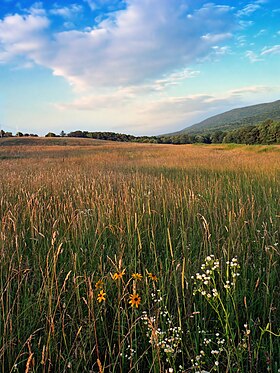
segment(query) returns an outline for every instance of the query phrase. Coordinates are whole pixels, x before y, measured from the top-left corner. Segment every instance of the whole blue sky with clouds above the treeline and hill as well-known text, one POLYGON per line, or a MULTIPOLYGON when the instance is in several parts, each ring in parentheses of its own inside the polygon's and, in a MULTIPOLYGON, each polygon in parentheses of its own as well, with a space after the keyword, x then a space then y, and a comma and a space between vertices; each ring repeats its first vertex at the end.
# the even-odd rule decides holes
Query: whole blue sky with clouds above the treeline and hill
POLYGON ((279 0, 0 0, 0 127, 159 135, 280 99, 279 0))

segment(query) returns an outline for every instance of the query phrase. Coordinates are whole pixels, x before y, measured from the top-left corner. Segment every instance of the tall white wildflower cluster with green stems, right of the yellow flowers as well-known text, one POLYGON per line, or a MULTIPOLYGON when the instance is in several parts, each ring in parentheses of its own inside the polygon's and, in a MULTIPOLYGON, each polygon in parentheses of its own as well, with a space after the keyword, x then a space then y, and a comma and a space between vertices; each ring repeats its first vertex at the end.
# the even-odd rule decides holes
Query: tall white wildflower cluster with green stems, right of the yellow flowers
MULTIPOLYGON (((232 346, 235 342, 233 342, 229 315, 234 314, 236 309, 234 290, 240 266, 236 257, 221 263, 214 255, 209 255, 205 258, 200 268, 201 271, 192 276, 194 294, 201 294, 218 314, 221 334, 219 332, 199 330, 198 333, 201 334, 200 352, 192 360, 192 368, 201 370, 204 366, 212 365, 210 371, 217 371, 228 354, 228 349, 235 348, 232 346)), ((194 317, 194 315, 192 316, 194 317)), ((245 335, 247 335, 246 333, 245 335)), ((244 338, 244 345, 245 342, 244 338)))

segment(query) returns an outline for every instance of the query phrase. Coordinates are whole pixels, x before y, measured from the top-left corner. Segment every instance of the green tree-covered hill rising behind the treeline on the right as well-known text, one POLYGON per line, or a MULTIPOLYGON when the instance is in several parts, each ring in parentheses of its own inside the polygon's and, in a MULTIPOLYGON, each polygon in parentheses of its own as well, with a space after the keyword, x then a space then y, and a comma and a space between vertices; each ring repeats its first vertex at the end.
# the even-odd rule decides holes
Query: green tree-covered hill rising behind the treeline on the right
POLYGON ((240 127, 257 125, 266 119, 280 121, 280 100, 226 111, 184 128, 176 132, 176 135, 231 131, 240 127))

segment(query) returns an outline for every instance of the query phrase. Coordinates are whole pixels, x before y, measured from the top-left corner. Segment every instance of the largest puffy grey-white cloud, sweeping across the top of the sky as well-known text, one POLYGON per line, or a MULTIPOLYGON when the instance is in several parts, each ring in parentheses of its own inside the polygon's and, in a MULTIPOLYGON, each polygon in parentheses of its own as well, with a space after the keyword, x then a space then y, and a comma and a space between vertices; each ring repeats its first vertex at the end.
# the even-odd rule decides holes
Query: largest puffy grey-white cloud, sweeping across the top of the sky
MULTIPOLYGON (((13 15, 0 23, 2 53, 25 54, 76 86, 143 83, 185 68, 231 37, 232 8, 203 3, 193 9, 187 0, 127 0, 97 26, 44 35, 45 15, 13 15)), ((67 17, 68 10, 53 12, 67 17)))

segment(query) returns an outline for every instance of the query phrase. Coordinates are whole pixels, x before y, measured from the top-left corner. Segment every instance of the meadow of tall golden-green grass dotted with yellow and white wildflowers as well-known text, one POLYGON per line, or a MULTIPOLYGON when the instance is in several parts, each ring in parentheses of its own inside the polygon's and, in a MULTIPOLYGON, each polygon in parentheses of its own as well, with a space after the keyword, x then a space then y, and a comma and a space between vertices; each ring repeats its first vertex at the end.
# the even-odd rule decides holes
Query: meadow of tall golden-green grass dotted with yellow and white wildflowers
POLYGON ((0 372, 280 371, 279 146, 20 141, 0 372))

